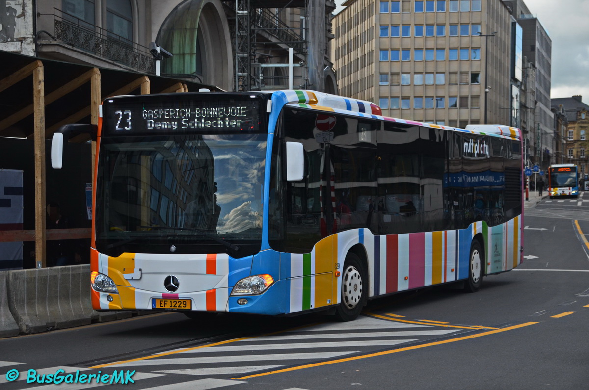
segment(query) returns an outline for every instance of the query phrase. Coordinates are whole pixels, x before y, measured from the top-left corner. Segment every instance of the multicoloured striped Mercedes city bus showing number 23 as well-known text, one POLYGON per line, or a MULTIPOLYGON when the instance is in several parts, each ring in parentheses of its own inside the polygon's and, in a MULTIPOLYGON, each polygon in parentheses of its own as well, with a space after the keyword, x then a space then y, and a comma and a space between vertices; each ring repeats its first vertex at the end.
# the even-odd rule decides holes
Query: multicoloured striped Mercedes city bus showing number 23
MULTIPOLYGON (((110 97, 97 126, 97 310, 358 317, 522 261, 517 128, 383 117, 306 90, 110 97)), ((208 315, 207 315, 208 314, 208 315)))

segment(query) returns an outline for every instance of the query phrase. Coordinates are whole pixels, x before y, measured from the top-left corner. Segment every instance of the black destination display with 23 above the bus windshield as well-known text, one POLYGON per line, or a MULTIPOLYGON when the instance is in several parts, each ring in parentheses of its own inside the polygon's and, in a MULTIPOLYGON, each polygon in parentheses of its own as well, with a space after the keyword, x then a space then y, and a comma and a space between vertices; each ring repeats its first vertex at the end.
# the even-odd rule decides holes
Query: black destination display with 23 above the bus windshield
POLYGON ((253 99, 114 101, 103 106, 102 133, 255 133, 260 130, 259 107, 259 101, 253 99))

